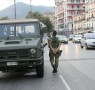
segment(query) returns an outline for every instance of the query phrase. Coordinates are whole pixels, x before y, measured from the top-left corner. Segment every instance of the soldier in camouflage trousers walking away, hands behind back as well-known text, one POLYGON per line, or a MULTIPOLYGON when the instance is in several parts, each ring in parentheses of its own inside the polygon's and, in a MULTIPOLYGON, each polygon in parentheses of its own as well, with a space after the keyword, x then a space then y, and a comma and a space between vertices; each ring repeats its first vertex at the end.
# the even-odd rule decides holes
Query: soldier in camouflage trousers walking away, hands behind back
POLYGON ((59 62, 59 56, 60 56, 60 46, 61 42, 56 37, 57 32, 53 31, 52 37, 50 38, 49 41, 49 57, 50 57, 50 62, 53 67, 53 73, 57 73, 57 68, 58 68, 58 62, 59 62))

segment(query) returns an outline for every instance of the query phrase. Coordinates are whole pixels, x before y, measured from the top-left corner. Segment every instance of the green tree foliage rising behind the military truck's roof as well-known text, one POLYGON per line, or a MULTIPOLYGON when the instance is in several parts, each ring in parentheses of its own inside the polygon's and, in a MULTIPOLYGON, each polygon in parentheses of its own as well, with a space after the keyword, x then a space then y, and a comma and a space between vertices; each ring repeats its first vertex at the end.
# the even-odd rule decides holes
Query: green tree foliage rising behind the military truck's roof
POLYGON ((36 18, 40 22, 44 23, 47 26, 47 33, 52 32, 54 29, 54 26, 53 26, 52 22, 50 21, 49 17, 44 17, 39 12, 29 11, 26 18, 33 18, 33 19, 36 18))

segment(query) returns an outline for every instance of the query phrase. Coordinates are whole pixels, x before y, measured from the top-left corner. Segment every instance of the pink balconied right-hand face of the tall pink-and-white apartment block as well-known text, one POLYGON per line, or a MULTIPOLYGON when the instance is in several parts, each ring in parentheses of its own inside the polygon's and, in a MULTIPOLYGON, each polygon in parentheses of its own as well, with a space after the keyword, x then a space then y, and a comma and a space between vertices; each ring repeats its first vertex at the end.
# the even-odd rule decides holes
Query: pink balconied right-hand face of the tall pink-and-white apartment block
POLYGON ((73 16, 85 11, 85 0, 64 0, 64 30, 66 35, 73 33, 73 16))

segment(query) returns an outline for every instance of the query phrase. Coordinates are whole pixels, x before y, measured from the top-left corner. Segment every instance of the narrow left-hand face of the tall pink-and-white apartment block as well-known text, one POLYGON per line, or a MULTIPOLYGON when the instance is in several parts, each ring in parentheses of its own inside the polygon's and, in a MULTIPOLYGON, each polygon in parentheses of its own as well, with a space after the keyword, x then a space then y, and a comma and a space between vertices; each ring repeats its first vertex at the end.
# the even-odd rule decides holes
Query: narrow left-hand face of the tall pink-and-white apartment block
POLYGON ((64 28, 63 0, 55 0, 55 30, 62 32, 64 28))

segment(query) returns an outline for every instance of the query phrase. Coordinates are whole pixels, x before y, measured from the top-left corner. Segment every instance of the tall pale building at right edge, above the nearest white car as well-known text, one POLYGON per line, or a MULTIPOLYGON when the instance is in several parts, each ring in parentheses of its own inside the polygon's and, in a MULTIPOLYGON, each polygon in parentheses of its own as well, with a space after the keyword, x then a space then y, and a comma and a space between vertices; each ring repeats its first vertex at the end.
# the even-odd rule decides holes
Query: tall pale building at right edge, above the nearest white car
POLYGON ((95 0, 85 1, 85 32, 95 30, 95 0))

